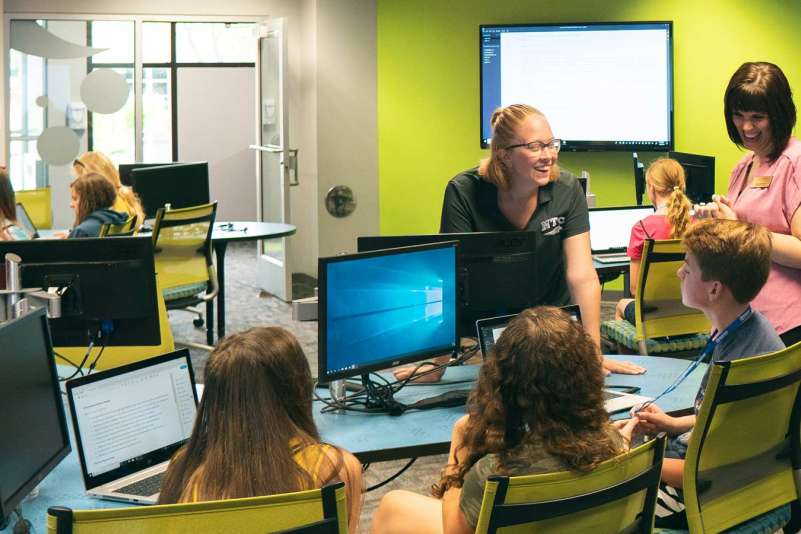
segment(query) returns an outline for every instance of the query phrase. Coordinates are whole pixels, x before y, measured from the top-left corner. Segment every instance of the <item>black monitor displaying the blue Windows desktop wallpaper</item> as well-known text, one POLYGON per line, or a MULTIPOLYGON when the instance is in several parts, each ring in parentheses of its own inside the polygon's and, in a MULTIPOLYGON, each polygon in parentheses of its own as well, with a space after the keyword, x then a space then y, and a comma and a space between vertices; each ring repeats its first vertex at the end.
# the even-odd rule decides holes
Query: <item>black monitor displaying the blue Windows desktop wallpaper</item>
POLYGON ((448 242, 320 258, 320 379, 456 353, 456 249, 448 242))

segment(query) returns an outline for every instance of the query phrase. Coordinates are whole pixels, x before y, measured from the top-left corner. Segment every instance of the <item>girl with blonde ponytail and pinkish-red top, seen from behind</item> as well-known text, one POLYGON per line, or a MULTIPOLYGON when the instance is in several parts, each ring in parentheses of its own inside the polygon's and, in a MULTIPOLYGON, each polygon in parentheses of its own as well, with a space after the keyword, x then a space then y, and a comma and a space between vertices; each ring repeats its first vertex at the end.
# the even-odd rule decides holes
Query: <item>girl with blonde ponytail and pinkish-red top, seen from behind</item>
MULTIPOLYGON (((638 221, 631 229, 627 254, 631 260, 629 267, 629 289, 637 294, 637 281, 640 274, 643 241, 646 239, 679 239, 692 219, 692 204, 684 193, 686 179, 684 168, 675 159, 659 158, 648 167, 645 173, 648 198, 656 208, 653 215, 638 221)), ((634 299, 621 299, 615 310, 616 319, 626 319, 634 324, 634 299)))

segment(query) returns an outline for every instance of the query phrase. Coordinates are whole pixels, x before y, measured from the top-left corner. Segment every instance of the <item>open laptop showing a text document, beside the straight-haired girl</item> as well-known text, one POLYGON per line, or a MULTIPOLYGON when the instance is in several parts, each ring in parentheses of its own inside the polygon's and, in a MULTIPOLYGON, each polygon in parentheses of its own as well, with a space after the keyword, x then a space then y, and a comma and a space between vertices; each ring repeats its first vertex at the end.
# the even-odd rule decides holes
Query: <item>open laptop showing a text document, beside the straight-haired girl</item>
POLYGON ((86 493, 155 504, 170 457, 195 422, 189 351, 69 380, 67 399, 86 493))

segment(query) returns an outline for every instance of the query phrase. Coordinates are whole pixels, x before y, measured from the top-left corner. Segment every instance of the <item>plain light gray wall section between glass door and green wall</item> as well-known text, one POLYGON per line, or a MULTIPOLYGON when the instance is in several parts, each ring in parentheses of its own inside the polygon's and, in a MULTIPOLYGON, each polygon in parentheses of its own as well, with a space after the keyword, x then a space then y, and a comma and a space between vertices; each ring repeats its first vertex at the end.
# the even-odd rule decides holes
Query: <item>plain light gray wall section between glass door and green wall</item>
POLYGON ((377 235, 378 124, 374 0, 317 3, 317 206, 320 255, 356 250, 356 237, 377 235), (341 219, 325 194, 347 185, 356 210, 341 219))

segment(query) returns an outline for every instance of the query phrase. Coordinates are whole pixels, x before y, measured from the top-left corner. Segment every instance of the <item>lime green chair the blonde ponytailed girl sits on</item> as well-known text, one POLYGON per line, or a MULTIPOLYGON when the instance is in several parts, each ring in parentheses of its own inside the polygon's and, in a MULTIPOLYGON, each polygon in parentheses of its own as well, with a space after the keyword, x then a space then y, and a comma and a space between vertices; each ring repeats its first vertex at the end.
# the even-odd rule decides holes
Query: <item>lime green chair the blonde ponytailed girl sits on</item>
POLYGON ((711 326, 702 312, 681 302, 681 280, 676 272, 683 262, 681 240, 645 240, 634 299, 637 324, 605 321, 601 334, 642 355, 701 351, 711 326))

